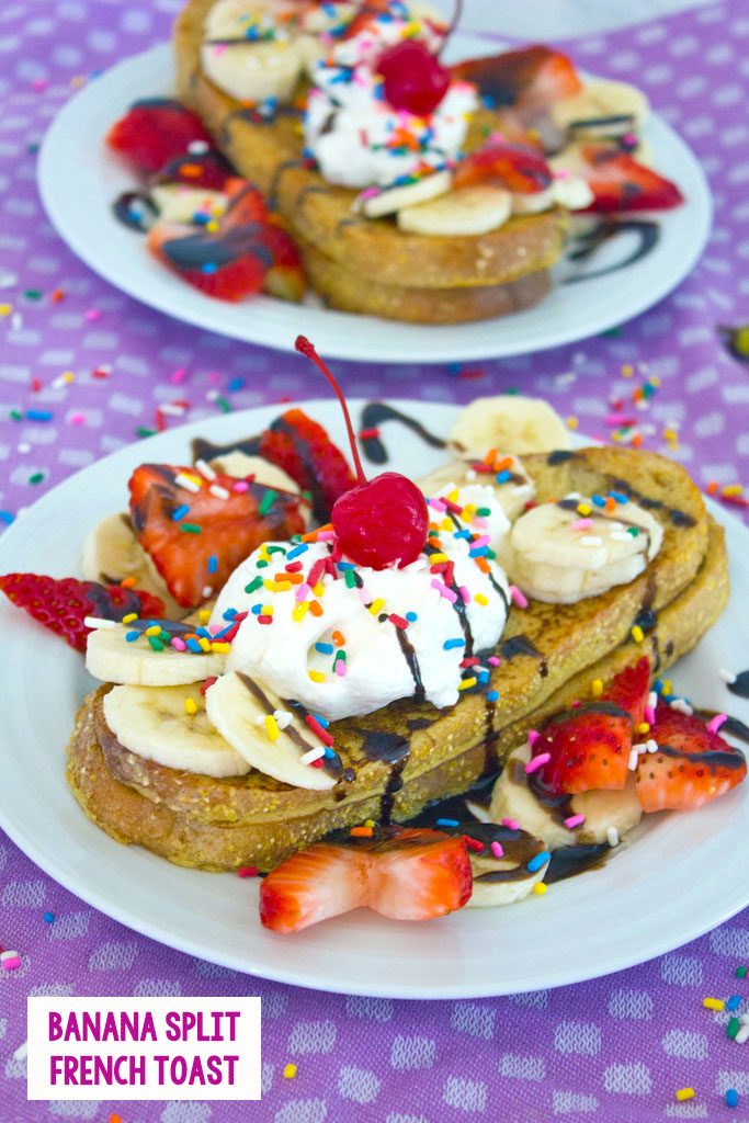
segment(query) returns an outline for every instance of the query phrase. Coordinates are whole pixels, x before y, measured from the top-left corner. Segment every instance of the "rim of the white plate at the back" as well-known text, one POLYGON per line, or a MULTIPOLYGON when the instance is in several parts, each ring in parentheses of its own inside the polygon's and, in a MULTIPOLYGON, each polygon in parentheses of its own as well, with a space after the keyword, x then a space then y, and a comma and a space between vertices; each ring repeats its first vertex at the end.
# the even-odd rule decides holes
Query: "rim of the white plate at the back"
MULTIPOLYGON (((466 44, 466 49, 468 49, 467 44, 472 42, 475 45, 481 45, 482 48, 486 46, 485 40, 475 33, 462 33, 459 37, 462 43, 466 44)), ((166 65, 171 66, 171 52, 170 43, 158 43, 136 55, 130 55, 127 58, 118 61, 115 65, 108 67, 102 75, 97 77, 95 83, 89 83, 76 91, 55 115, 45 131, 37 163, 37 186, 47 217, 61 239, 88 268, 102 277, 108 284, 124 292, 127 296, 145 304, 145 307, 170 317, 177 323, 188 323, 198 330, 212 331, 226 339, 236 339, 284 353, 293 351, 293 339, 296 335, 293 325, 292 330, 289 332, 278 331, 277 326, 272 326, 270 334, 264 334, 261 330, 259 335, 254 334, 250 337, 246 332, 240 331, 238 326, 235 328, 232 323, 220 323, 217 327, 216 322, 211 322, 216 319, 213 314, 216 309, 213 305, 217 302, 211 301, 208 296, 202 299, 195 310, 189 312, 185 318, 184 314, 180 314, 179 309, 175 307, 179 300, 172 295, 173 290, 171 286, 165 289, 163 293, 157 290, 155 294, 150 292, 146 295, 139 291, 136 281, 129 280, 128 270, 118 272, 107 261, 102 263, 97 255, 95 246, 88 243, 81 236, 76 221, 74 219, 71 220, 65 199, 58 197, 57 188, 60 181, 56 168, 58 161, 65 158, 68 120, 77 118, 81 104, 85 104, 92 95, 91 90, 101 89, 101 83, 107 83, 112 76, 117 81, 124 73, 129 73, 130 71, 138 72, 141 67, 147 67, 154 61, 163 58, 166 65)), ((386 348, 387 353, 383 354, 381 359, 391 364, 414 362, 481 362, 492 358, 511 358, 521 355, 532 355, 595 338, 603 331, 627 323, 649 308, 658 304, 689 275, 705 252, 713 227, 714 208, 707 177, 689 146, 661 115, 657 112, 651 113, 651 120, 667 135, 669 144, 678 150, 679 158, 684 162, 684 168, 694 179, 693 190, 687 202, 693 204, 694 214, 691 228, 695 229, 695 240, 691 246, 689 253, 681 259, 679 266, 676 270, 661 276, 660 282, 657 284, 641 286, 638 295, 630 300, 623 319, 619 316, 613 316, 611 308, 606 311, 605 308, 608 305, 604 305, 603 313, 599 312, 597 318, 590 321, 582 330, 579 321, 569 318, 567 329, 557 329, 556 335, 541 337, 540 343, 536 339, 531 346, 528 346, 528 343, 530 343, 528 340, 524 345, 518 344, 510 347, 500 347, 497 350, 495 345, 490 345, 488 338, 483 344, 472 344, 471 339, 472 334, 483 334, 483 330, 487 326, 490 326, 487 337, 491 334, 491 326, 499 326, 496 335, 500 338, 501 325, 505 319, 503 317, 466 325, 409 325, 341 312, 337 309, 307 309, 307 311, 323 313, 323 319, 319 321, 319 331, 320 335, 325 332, 326 336, 323 345, 326 353, 331 358, 347 362, 371 362, 371 347, 367 351, 366 344, 358 341, 368 329, 369 331, 377 331, 378 336, 383 337, 378 339, 378 347, 381 350, 383 347, 386 348), (652 296, 654 292, 656 293, 655 299, 652 296), (576 322, 577 327, 575 327, 576 322), (326 325, 329 328, 326 328, 326 325), (348 330, 346 329, 346 325, 349 326, 348 330), (357 330, 357 328, 360 330, 357 330), (389 345, 386 340, 387 335, 401 341, 389 345), (453 339, 459 340, 459 345, 451 344, 450 340, 453 339)), ((175 285, 181 284, 177 279, 170 279, 170 281, 174 281, 175 285)), ((175 289, 174 291, 179 290, 175 289)), ((276 305, 283 303, 270 296, 257 296, 254 301, 261 313, 259 317, 255 318, 257 321, 263 320, 264 310, 268 308, 275 310, 276 305)), ((544 302, 537 305, 537 308, 542 308, 542 304, 544 302)), ((298 318, 300 305, 291 305, 291 308, 295 310, 295 318, 298 318)), ((513 318, 523 316, 526 312, 533 312, 535 310, 528 309, 524 312, 514 313, 513 318)), ((285 312, 285 309, 283 309, 283 312, 285 312)), ((307 334, 311 334, 310 329, 308 329, 307 334)))

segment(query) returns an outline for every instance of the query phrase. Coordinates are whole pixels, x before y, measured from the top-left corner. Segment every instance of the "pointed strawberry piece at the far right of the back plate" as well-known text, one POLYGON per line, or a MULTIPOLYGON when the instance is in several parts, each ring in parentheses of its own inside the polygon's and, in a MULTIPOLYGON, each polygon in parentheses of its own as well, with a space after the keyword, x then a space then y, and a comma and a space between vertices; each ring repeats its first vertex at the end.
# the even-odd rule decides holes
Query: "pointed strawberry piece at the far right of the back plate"
POLYGON ((675 183, 619 148, 604 144, 581 145, 576 154, 576 171, 594 195, 588 210, 670 210, 684 202, 675 183))

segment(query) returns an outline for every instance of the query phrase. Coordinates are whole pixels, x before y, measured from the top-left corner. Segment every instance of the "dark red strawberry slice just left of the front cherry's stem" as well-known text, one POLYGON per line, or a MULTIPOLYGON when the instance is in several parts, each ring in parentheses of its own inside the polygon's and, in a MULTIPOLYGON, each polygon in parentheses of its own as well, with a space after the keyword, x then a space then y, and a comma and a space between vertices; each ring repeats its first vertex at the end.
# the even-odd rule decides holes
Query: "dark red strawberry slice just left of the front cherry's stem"
POLYGON ((314 515, 327 522, 332 505, 356 483, 344 454, 303 410, 286 410, 261 436, 261 456, 312 495, 314 515))

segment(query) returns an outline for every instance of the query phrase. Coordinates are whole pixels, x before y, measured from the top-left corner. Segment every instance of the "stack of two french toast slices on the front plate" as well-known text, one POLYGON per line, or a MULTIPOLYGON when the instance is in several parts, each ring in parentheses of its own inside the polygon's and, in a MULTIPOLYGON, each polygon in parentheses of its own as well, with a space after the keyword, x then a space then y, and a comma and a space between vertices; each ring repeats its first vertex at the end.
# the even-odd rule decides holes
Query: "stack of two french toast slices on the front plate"
POLYGON ((465 791, 528 729, 609 681, 639 654, 663 669, 689 650, 728 597, 722 530, 679 465, 650 453, 588 448, 524 458, 539 500, 572 489, 629 492, 664 526, 658 556, 638 578, 572 605, 512 608, 492 673, 500 701, 464 694, 449 710, 395 703, 331 725, 344 778, 327 792, 259 773, 209 779, 126 750, 108 729, 101 687, 83 704, 67 777, 86 814, 120 841, 203 869, 267 870, 335 828, 392 814, 404 820, 465 791), (645 641, 632 639, 636 621, 645 641))

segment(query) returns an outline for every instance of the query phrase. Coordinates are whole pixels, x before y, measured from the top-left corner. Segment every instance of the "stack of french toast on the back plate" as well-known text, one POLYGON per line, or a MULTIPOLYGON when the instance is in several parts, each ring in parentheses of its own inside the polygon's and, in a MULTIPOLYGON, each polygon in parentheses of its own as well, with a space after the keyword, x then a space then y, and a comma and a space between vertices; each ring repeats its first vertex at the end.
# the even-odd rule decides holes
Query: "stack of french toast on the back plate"
MULTIPOLYGON (((506 220, 501 222, 497 214, 495 228, 490 219, 485 229, 483 190, 453 191, 438 200, 442 211, 451 211, 453 225, 442 225, 455 232, 446 235, 438 232, 440 216, 436 225, 429 226, 435 232, 410 232, 393 221, 394 214, 387 209, 382 214, 376 204, 360 209, 356 189, 330 182, 309 158, 302 128, 309 84, 303 75, 294 84, 291 103, 282 106, 282 111, 276 108, 263 116, 255 102, 228 93, 207 73, 207 26, 211 17, 216 19, 217 7, 213 0, 190 0, 177 18, 174 48, 179 95, 203 119, 239 173, 266 194, 286 221, 302 250, 313 289, 329 304, 391 319, 456 323, 528 308, 546 294, 549 268, 564 245, 564 206, 547 201, 538 213, 504 214, 506 220), (454 219, 458 220, 457 227, 454 219), (472 226, 475 219, 477 227, 472 226), (460 225, 465 234, 457 232, 460 225), (468 232, 471 229, 479 232, 468 232)), ((382 13, 389 7, 404 6, 359 7, 372 12, 373 18, 384 18, 382 13)), ((244 9, 249 8, 244 4, 244 9)), ((231 28, 237 18, 230 9, 219 26, 228 22, 231 28)), ((222 52, 223 65, 230 67, 232 52, 236 55, 247 46, 255 51, 257 47, 246 39, 238 42, 237 30, 225 33, 229 34, 235 38, 228 45, 226 38, 213 38, 210 44, 222 52)), ((238 61, 237 70, 240 65, 238 61)), ((574 92, 578 88, 574 73, 570 83, 569 92, 574 92)), ((462 154, 482 148, 487 137, 508 128, 505 109, 487 108, 487 103, 488 99, 469 115, 462 154)), ((517 125, 513 128, 517 131, 517 125)), ((430 183, 439 175, 428 176, 430 183)), ((409 192, 405 194, 408 202, 409 192)))

